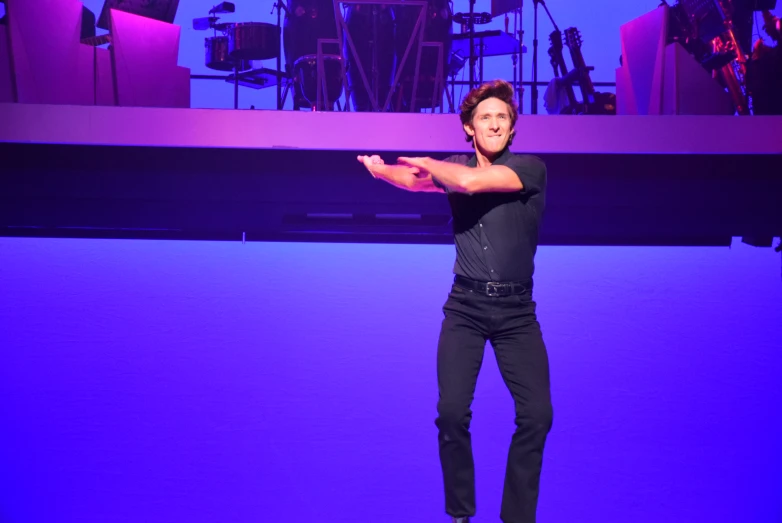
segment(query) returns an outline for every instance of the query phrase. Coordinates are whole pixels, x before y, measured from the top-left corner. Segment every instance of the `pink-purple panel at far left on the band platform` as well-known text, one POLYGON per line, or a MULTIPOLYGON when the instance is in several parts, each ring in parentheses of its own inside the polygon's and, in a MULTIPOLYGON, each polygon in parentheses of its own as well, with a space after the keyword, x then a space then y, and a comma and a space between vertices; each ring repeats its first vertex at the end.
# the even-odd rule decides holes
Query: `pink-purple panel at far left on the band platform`
POLYGON ((78 0, 7 0, 18 101, 90 104, 78 0), (74 74, 77 71, 77 74, 74 74))

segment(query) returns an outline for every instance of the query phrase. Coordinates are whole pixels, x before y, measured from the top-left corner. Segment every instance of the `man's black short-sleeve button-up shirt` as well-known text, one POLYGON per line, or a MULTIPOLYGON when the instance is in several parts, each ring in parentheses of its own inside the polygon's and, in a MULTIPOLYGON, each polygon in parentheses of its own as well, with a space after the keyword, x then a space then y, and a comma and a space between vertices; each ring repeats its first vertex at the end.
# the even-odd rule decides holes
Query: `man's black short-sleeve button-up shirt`
MULTIPOLYGON (((477 157, 449 156, 446 162, 477 166, 477 157)), ((546 164, 532 155, 505 151, 492 165, 511 168, 521 180, 517 192, 448 194, 456 244, 454 273, 483 282, 531 282, 538 230, 545 209, 546 164)))

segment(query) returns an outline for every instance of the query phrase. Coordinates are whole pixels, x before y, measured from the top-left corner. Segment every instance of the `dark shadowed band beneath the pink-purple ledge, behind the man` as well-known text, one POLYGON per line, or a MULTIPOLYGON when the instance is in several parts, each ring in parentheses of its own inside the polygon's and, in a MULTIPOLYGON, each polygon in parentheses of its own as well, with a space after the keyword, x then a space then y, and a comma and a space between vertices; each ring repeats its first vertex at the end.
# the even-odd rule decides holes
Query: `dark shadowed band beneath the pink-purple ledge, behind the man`
MULTIPOLYGON (((8 236, 449 243, 449 207, 359 151, 0 144, 8 236), (392 215, 392 216, 389 216, 392 215)), ((397 156, 443 151, 389 151, 397 156)), ((779 155, 540 154, 542 244, 726 245, 782 234, 779 155)))

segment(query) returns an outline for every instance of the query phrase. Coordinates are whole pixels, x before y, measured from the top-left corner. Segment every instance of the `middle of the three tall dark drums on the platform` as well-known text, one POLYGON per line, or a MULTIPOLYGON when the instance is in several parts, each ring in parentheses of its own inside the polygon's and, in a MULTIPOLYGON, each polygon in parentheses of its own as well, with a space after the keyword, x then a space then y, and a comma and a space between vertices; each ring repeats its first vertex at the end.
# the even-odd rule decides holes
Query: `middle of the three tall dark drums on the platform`
POLYGON ((351 100, 354 109, 366 112, 374 110, 361 79, 358 68, 360 62, 369 88, 376 97, 378 110, 382 111, 394 75, 394 13, 388 6, 349 4, 345 23, 358 55, 357 61, 345 39, 343 56, 347 61, 348 85, 353 94, 351 100))

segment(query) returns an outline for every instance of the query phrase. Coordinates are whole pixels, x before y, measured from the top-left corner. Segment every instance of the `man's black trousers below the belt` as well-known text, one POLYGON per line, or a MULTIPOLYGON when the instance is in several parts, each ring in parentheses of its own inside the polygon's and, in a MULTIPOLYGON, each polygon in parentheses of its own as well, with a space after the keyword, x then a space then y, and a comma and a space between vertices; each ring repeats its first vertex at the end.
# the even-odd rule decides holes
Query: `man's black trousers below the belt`
POLYGON ((475 514, 470 406, 488 340, 516 409, 500 518, 504 523, 533 523, 553 411, 548 354, 531 291, 491 297, 454 285, 443 312, 437 347, 436 425, 445 511, 454 517, 475 514))

